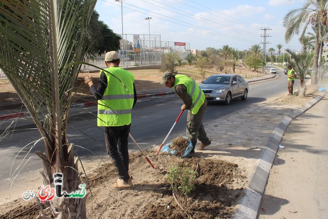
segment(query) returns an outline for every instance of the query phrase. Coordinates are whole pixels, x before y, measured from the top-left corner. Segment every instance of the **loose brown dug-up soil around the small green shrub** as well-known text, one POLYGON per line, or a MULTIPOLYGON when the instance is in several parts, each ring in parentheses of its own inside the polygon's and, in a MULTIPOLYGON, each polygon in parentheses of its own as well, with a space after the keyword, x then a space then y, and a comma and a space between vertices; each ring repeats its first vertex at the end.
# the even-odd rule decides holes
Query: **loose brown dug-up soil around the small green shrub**
MULTIPOLYGON (((145 153, 151 157, 155 151, 149 149, 145 153)), ((88 175, 92 193, 89 192, 87 198, 87 218, 228 218, 234 214, 238 197, 247 183, 238 165, 197 155, 180 158, 159 154, 158 158, 157 162, 153 162, 156 167, 153 169, 140 152, 130 154, 129 172, 134 188, 129 190, 111 188, 117 178, 111 162, 94 169, 88 175), (188 197, 184 209, 173 198, 167 180, 173 164, 188 166, 198 176, 195 190, 188 197)), ((0 218, 35 218, 39 213, 35 201, 20 199, 15 201, 15 205, 3 205, 0 218)))

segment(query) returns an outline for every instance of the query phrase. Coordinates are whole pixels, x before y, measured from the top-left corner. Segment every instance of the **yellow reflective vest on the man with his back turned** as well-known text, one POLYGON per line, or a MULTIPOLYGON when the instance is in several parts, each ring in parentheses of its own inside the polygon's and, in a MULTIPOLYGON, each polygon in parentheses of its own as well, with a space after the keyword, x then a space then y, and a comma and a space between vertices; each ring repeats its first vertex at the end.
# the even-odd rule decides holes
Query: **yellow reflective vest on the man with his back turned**
POLYGON ((107 88, 103 98, 98 100, 97 124, 98 126, 129 125, 134 101, 134 75, 119 67, 107 68, 106 71, 107 88), (106 71, 118 77, 124 85, 106 71))

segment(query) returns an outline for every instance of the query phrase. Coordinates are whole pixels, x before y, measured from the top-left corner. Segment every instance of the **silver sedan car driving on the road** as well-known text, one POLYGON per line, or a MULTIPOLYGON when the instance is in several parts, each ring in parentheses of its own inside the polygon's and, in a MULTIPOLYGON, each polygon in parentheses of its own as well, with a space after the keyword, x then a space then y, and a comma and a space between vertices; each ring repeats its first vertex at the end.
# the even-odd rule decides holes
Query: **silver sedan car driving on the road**
POLYGON ((247 99, 248 82, 238 74, 214 74, 199 85, 208 102, 224 101, 227 105, 234 98, 247 99))

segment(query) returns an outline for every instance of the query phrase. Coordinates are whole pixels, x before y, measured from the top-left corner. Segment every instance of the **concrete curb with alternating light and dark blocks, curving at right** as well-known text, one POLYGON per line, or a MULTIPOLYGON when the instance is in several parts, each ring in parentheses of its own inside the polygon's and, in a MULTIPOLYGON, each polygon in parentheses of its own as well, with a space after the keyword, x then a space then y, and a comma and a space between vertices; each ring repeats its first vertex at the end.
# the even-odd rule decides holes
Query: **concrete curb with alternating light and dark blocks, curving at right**
POLYGON ((261 160, 258 162, 258 165, 255 168, 255 172, 251 176, 249 187, 246 189, 244 197, 239 202, 240 207, 233 218, 256 218, 260 208, 262 195, 265 186, 267 185, 269 172, 284 132, 294 118, 308 111, 324 96, 325 94, 317 96, 302 106, 300 109, 296 109, 290 114, 286 115, 278 127, 273 130, 267 144, 265 144, 262 154, 260 155, 261 160))

